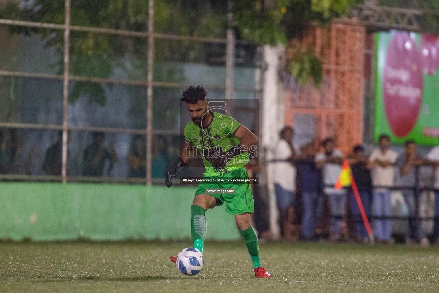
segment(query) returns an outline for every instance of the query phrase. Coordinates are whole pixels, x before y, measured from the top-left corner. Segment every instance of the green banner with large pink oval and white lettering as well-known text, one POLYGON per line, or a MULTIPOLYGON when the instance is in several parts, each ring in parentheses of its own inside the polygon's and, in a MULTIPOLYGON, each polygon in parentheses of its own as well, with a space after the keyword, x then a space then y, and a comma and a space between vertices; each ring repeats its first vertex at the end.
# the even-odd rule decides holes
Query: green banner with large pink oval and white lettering
POLYGON ((375 33, 375 140, 409 139, 437 145, 439 136, 439 37, 375 33))

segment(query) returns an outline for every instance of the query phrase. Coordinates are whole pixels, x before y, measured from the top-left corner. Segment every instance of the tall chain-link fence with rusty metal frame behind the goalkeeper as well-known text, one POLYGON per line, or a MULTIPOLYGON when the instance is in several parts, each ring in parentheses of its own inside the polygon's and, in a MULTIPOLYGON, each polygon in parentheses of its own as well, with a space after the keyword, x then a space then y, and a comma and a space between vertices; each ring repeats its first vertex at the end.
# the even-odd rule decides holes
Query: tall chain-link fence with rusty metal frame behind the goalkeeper
POLYGON ((184 88, 259 98, 257 48, 209 3, 0 0, 0 179, 161 182, 184 88))

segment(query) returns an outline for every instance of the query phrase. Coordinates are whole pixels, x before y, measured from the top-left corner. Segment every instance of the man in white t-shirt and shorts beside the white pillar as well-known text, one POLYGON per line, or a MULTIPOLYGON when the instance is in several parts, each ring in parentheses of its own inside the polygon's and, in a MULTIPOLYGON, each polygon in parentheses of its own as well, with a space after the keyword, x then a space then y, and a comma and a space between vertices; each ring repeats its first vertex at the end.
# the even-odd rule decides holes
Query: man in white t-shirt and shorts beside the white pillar
POLYGON ((284 127, 280 136, 281 139, 273 149, 275 159, 273 181, 277 208, 279 209, 281 234, 285 239, 291 240, 293 236, 292 223, 288 223, 288 210, 291 210, 294 205, 296 191, 296 168, 294 166, 296 152, 291 144, 293 129, 289 126, 284 127))

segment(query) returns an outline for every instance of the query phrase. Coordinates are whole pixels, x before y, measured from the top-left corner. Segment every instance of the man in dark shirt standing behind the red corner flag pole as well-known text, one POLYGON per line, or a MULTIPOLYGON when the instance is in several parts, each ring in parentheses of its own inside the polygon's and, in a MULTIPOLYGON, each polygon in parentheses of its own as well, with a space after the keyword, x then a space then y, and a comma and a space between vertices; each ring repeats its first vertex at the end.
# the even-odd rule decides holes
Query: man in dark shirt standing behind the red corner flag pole
MULTIPOLYGON (((353 156, 348 159, 349 166, 352 170, 358 193, 360 194, 361 202, 363 203, 364 211, 367 217, 371 215, 371 194, 372 194, 372 178, 371 170, 367 169, 367 156, 364 154, 364 148, 361 145, 356 145, 353 148, 353 156)), ((352 188, 349 188, 348 200, 352 209, 355 221, 355 235, 357 242, 364 243, 369 241, 369 237, 361 217, 360 207, 356 201, 352 188)))

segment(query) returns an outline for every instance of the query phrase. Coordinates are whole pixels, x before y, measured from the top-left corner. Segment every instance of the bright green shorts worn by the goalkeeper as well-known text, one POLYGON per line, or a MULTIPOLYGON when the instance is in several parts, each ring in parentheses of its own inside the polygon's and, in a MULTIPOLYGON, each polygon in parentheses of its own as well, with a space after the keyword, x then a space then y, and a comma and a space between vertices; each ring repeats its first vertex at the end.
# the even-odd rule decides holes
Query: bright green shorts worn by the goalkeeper
MULTIPOLYGON (((241 167, 239 169, 235 169, 230 171, 227 174, 221 176, 215 176, 210 178, 248 178, 247 170, 245 167, 241 167)), ((209 178, 209 177, 205 177, 209 178)), ((236 183, 200 183, 198 185, 197 191, 195 195, 205 194, 205 188, 235 188, 236 194, 209 194, 215 197, 217 202, 217 206, 222 206, 224 202, 226 202, 226 212, 232 215, 240 215, 241 213, 253 213, 254 202, 253 202, 253 194, 252 189, 250 188, 250 184, 236 184, 236 183)))

